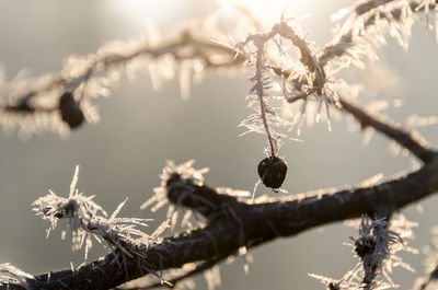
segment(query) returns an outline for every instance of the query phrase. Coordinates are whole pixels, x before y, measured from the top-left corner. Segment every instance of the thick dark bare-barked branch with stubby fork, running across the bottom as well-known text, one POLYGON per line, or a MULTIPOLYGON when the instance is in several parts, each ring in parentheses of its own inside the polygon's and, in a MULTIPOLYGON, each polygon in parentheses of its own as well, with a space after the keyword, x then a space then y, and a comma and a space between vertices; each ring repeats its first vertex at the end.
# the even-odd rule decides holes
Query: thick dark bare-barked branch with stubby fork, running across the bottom
MULTIPOLYGON (((168 184, 170 199, 185 192, 180 202, 194 210, 216 205, 207 211, 209 223, 204 229, 164 239, 145 251, 148 272, 136 258, 120 268, 110 254, 80 269, 55 271, 28 279, 33 289, 111 289, 128 280, 186 263, 211 260, 234 254, 239 247, 252 247, 279 236, 291 236, 314 227, 362 213, 373 214, 382 208, 402 208, 438 190, 437 154, 420 170, 369 187, 320 190, 304 197, 273 198, 264 204, 247 204, 219 195, 207 186, 173 176, 168 184), (178 186, 184 183, 184 187, 178 186), (192 194, 187 193, 192 187, 192 194), (199 201, 200 200, 200 201, 199 201), (232 214, 231 214, 232 213, 232 214), (125 271, 127 270, 127 271, 125 271)), ((206 213, 206 211, 203 211, 206 213)), ((7 289, 2 287, 0 289, 7 289)), ((23 289, 11 286, 10 289, 23 289)))

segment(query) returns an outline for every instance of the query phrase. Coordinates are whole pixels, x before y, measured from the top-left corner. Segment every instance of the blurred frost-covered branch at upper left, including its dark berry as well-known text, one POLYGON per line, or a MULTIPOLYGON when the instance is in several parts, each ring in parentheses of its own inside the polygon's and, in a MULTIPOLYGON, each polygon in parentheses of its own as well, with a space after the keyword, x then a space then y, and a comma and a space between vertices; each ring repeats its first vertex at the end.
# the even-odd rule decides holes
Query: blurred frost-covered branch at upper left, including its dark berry
POLYGON ((71 56, 58 76, 18 78, 0 85, 0 121, 3 126, 19 126, 24 132, 47 126, 64 132, 79 127, 84 120, 94 123, 99 119, 89 96, 107 95, 123 68, 132 76, 140 66, 149 67, 153 74, 154 67, 176 62, 185 63, 186 68, 182 68, 185 73, 195 62, 197 70, 235 67, 244 59, 234 55, 227 46, 197 37, 188 30, 176 39, 161 44, 150 44, 148 39, 115 42, 95 54, 71 56), (161 60, 166 63, 160 63, 161 60), (187 67, 191 61, 193 63, 187 67))

